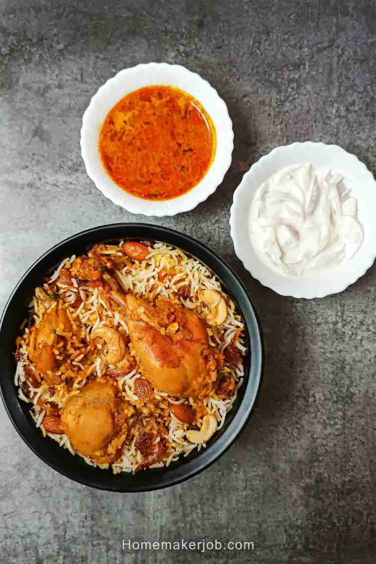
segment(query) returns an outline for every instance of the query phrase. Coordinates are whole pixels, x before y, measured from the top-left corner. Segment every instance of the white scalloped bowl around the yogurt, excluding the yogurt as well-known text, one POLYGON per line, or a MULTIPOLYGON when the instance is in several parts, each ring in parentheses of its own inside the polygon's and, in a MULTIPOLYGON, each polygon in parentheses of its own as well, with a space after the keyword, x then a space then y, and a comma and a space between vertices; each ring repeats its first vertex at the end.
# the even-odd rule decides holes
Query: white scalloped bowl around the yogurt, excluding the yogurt
POLYGON ((373 265, 376 257, 376 182, 364 163, 338 145, 293 143, 273 149, 251 166, 237 187, 230 212, 231 237, 235 253, 250 274, 267 288, 282 296, 322 298, 342 292, 356 282, 373 265), (304 276, 284 276, 260 259, 251 244, 248 221, 256 189, 285 166, 312 162, 317 168, 329 167, 342 174, 358 200, 358 219, 364 229, 364 240, 358 252, 347 263, 304 276))

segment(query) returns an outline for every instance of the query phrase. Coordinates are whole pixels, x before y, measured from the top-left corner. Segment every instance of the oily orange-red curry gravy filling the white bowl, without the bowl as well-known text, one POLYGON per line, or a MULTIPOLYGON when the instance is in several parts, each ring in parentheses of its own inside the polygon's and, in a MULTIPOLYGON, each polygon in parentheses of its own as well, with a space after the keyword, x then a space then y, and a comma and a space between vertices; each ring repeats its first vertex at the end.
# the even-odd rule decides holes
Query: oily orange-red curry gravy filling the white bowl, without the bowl
POLYGON ((209 114, 171 86, 147 86, 122 98, 107 114, 99 138, 110 178, 147 200, 191 190, 209 169, 215 146, 209 114))

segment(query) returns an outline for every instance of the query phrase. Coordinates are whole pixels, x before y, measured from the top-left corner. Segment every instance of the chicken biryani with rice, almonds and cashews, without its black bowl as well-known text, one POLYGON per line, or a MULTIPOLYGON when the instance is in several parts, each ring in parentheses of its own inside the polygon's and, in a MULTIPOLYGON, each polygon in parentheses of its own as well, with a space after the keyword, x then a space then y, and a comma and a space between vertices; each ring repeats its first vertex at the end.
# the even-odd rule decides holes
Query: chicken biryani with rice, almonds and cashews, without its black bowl
POLYGON ((164 243, 96 244, 34 290, 15 385, 43 437, 135 473, 213 440, 245 354, 235 304, 196 258, 164 243))

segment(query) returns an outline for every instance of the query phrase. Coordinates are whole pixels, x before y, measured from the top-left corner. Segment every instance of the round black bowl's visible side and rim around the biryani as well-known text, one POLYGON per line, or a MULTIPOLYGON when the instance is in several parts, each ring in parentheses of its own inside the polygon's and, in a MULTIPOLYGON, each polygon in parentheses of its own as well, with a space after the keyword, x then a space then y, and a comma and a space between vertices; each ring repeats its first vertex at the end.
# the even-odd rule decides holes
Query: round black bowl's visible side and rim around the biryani
POLYGON ((235 272, 205 245, 183 233, 142 223, 117 223, 94 227, 65 239, 43 254, 21 278, 8 299, 0 321, 1 394, 12 423, 25 443, 49 466, 68 478, 108 491, 140 492, 172 486, 198 474, 218 459, 231 446, 244 428, 260 387, 263 371, 263 340, 258 316, 244 284, 235 272), (238 398, 228 413, 225 425, 200 452, 171 463, 169 468, 151 469, 132 475, 112 474, 112 470, 100 470, 86 464, 80 456, 72 456, 60 448, 54 440, 43 438, 30 417, 29 404, 21 402, 14 385, 15 339, 25 318, 33 288, 41 284, 46 274, 52 274, 56 266, 72 254, 86 253, 95 243, 111 243, 114 240, 162 241, 179 247, 200 259, 218 276, 224 290, 232 297, 245 321, 246 340, 250 353, 245 359, 245 381, 238 398))

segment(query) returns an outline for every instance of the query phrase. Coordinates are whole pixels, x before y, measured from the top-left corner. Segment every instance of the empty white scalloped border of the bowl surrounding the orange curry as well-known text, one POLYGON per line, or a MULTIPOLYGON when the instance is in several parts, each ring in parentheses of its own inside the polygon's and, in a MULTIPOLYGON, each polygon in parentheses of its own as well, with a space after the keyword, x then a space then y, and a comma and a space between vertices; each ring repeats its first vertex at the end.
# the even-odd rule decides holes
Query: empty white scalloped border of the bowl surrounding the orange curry
POLYGON ((81 155, 95 186, 114 204, 131 213, 163 217, 192 210, 215 192, 231 165, 233 136, 227 106, 209 82, 180 65, 148 63, 121 70, 92 97, 82 118, 81 155), (216 152, 205 177, 189 192, 165 201, 143 200, 117 186, 104 170, 98 149, 100 129, 110 109, 129 92, 152 85, 175 86, 191 94, 209 113, 216 130, 216 152))

